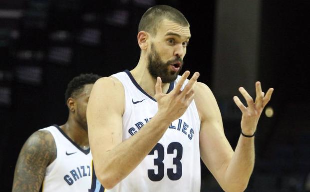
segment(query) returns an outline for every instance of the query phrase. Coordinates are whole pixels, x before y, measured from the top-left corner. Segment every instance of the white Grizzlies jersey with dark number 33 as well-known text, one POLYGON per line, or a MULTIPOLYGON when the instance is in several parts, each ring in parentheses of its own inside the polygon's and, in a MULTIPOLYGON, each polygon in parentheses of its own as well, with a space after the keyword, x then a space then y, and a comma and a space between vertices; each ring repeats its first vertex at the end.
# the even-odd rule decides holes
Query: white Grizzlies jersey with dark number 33
MULTIPOLYGON (((156 100, 138 85, 128 70, 112 76, 121 81, 125 91, 124 141, 143 129, 158 107, 156 100)), ((168 92, 179 79, 180 76, 170 84, 168 92)), ((184 85, 181 90, 183 88, 184 85)), ((139 166, 105 192, 200 192, 199 130, 200 119, 193 101, 139 166)))

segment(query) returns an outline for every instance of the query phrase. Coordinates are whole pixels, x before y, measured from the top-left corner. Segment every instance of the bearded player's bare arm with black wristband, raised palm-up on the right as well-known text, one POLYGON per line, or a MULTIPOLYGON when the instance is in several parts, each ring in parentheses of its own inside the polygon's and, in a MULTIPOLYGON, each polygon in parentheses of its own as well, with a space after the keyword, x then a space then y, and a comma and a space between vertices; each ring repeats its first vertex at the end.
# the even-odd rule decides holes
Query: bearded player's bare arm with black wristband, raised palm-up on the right
MULTIPOLYGON (((256 83, 257 97, 255 102, 244 88, 239 89, 245 97, 245 107, 238 97, 234 101, 241 109, 241 128, 245 135, 253 135, 259 117, 271 98, 273 89, 266 96, 259 82, 256 83)), ((195 102, 201 119, 200 155, 226 192, 242 192, 247 188, 255 162, 254 137, 240 136, 235 152, 224 134, 222 117, 211 90, 199 83, 195 92, 195 102)))

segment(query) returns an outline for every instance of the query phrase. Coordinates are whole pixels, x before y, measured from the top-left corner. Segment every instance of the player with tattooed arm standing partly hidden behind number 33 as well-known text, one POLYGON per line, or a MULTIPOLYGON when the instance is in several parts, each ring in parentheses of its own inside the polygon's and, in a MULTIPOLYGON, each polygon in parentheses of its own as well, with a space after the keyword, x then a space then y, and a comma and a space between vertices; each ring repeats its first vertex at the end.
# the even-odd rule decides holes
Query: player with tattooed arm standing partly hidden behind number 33
POLYGON ((64 125, 34 132, 17 160, 12 192, 88 192, 92 156, 89 149, 86 106, 100 76, 74 77, 65 91, 69 109, 64 125))

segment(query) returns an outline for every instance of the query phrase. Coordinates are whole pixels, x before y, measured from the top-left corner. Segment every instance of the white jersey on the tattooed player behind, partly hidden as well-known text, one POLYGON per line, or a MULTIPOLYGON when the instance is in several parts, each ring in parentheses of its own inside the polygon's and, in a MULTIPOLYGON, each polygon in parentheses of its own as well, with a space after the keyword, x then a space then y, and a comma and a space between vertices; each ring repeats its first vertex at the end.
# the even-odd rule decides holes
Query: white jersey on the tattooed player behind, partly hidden
POLYGON ((57 157, 47 167, 42 192, 88 192, 92 156, 75 144, 57 125, 44 129, 54 137, 57 157))

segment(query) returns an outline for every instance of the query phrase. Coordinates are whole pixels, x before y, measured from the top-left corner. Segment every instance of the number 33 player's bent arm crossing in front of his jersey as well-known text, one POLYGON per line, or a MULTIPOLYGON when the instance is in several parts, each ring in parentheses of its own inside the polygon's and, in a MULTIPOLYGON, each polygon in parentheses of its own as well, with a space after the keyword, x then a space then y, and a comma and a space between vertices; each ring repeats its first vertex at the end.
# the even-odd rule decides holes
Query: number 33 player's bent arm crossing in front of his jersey
POLYGON ((122 141, 124 88, 111 77, 99 79, 93 86, 87 105, 88 136, 97 179, 106 189, 113 188, 127 177, 149 154, 170 123, 179 118, 192 101, 193 75, 184 91, 180 91, 189 72, 169 94, 163 94, 161 80, 156 84, 158 112, 129 139, 122 141))

